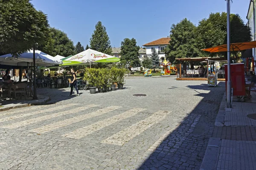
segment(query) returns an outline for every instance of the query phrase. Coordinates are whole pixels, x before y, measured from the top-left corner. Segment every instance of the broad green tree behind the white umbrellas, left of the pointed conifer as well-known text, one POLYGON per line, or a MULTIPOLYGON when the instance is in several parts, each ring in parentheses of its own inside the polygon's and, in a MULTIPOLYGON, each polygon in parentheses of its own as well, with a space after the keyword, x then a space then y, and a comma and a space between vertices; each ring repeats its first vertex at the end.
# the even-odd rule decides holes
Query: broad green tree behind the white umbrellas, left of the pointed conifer
POLYGON ((75 54, 73 41, 67 37, 66 33, 56 28, 50 28, 48 40, 38 49, 51 56, 61 55, 67 57, 75 54))

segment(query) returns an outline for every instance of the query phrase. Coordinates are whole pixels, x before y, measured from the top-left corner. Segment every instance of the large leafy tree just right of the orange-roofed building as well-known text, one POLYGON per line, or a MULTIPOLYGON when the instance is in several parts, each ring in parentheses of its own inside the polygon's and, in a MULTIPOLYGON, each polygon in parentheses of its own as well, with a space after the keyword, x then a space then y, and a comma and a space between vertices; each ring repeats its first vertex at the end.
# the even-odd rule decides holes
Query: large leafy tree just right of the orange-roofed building
POLYGON ((197 57, 198 48, 195 42, 196 26, 186 18, 172 24, 170 44, 166 48, 166 58, 175 63, 175 58, 197 57))

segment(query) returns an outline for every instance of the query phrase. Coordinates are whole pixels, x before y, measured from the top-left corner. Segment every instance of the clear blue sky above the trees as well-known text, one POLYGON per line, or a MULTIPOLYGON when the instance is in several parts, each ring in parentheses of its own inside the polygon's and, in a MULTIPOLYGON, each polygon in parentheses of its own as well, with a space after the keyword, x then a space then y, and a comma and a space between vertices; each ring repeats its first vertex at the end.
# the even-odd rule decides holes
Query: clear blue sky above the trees
MULTIPOLYGON (((98 21, 106 27, 112 47, 124 38, 137 45, 169 36, 172 24, 187 18, 198 25, 211 12, 227 11, 225 0, 32 0, 35 8, 48 15, 49 24, 67 33, 84 47, 98 21)), ((246 23, 249 0, 233 0, 231 13, 246 23)))

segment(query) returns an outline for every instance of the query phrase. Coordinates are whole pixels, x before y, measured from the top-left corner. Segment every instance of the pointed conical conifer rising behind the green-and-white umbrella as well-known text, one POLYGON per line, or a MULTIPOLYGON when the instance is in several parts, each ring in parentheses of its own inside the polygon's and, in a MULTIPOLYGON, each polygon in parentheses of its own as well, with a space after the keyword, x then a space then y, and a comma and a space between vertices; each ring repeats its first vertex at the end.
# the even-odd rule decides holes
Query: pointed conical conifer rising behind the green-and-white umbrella
POLYGON ((109 55, 112 53, 106 27, 102 25, 101 21, 96 24, 95 30, 90 38, 90 48, 109 55))

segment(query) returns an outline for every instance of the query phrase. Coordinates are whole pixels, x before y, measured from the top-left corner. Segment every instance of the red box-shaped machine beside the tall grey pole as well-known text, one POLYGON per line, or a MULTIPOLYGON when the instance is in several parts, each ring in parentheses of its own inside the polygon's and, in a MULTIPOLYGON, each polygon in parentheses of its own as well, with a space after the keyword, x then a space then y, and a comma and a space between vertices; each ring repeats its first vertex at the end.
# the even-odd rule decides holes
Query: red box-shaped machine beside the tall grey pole
MULTIPOLYGON (((244 63, 230 64, 231 88, 233 88, 233 96, 246 96, 245 79, 244 79, 244 63)), ((227 92, 227 65, 225 64, 225 81, 227 92)))

